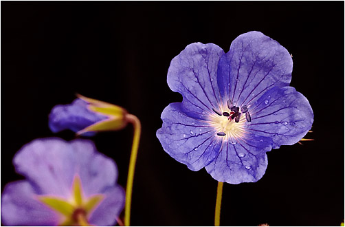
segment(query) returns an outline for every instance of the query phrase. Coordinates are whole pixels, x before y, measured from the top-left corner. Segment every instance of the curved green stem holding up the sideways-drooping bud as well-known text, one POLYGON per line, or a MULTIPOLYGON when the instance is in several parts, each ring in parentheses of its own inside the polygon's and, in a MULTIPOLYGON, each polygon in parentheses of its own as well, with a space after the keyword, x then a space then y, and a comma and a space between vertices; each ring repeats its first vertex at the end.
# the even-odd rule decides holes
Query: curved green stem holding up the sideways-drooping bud
POLYGON ((133 136, 131 158, 129 160, 129 175, 127 177, 126 203, 124 206, 124 226, 129 226, 129 222, 131 219, 131 200, 132 200, 135 162, 137 160, 137 149, 139 147, 140 131, 141 131, 142 127, 140 124, 140 120, 132 114, 126 114, 126 120, 128 122, 131 122, 133 124, 133 127, 134 127, 134 136, 133 136))

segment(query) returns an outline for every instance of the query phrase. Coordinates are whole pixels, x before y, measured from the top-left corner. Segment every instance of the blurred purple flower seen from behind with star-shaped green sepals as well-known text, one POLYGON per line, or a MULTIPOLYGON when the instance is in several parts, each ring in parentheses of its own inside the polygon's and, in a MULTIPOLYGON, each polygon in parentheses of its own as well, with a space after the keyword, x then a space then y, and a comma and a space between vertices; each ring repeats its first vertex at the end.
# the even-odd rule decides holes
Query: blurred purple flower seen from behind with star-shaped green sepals
POLYGON ((37 139, 13 160, 26 180, 1 195, 1 221, 10 226, 110 226, 124 208, 115 162, 89 140, 37 139))

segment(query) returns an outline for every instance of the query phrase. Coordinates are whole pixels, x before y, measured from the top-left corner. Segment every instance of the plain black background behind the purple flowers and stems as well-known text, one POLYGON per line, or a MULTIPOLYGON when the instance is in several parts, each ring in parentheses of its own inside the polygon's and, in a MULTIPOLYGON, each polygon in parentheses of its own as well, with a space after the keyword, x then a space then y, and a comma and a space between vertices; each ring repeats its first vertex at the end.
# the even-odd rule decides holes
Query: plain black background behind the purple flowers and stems
MULTIPOLYGON (((21 179, 12 158, 49 131, 47 116, 76 92, 126 108, 142 121, 133 188, 134 226, 212 226, 217 182, 164 152, 160 114, 181 95, 170 61, 186 45, 258 30, 293 54, 291 86, 315 114, 313 142, 267 153, 256 183, 225 184, 225 226, 339 226, 344 219, 344 2, 1 1, 1 191, 21 179)), ((133 129, 91 138, 126 186, 133 129)))

